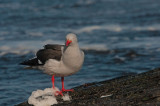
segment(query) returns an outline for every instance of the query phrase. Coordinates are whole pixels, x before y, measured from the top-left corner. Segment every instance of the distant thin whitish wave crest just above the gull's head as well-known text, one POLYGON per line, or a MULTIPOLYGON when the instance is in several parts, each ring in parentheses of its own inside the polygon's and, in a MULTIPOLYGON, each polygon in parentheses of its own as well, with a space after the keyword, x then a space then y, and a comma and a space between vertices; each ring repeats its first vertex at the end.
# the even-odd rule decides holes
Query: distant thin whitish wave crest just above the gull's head
MULTIPOLYGON (((73 32, 76 34, 81 33, 92 33, 93 31, 110 31, 110 32, 123 32, 123 31, 160 31, 160 24, 146 25, 146 26, 132 26, 132 25, 120 25, 120 24, 110 24, 110 25, 92 25, 85 26, 79 29, 71 29, 71 28, 47 28, 43 29, 44 31, 58 31, 58 32, 73 32)), ((26 32, 30 36, 44 36, 43 32, 38 31, 27 31, 26 32)))

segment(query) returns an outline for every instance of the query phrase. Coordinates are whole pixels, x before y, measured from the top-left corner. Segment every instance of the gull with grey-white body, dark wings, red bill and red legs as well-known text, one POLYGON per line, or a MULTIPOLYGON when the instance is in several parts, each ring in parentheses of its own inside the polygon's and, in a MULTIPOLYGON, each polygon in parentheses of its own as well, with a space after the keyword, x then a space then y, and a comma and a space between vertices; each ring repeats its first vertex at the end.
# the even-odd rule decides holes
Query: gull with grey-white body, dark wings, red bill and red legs
POLYGON ((63 95, 63 92, 73 91, 64 88, 64 77, 78 72, 83 62, 84 52, 79 48, 76 35, 70 33, 66 36, 65 45, 47 44, 44 49, 36 53, 35 58, 20 64, 40 69, 44 73, 52 75, 53 89, 55 89, 54 76, 61 77, 62 89, 56 93, 63 95))

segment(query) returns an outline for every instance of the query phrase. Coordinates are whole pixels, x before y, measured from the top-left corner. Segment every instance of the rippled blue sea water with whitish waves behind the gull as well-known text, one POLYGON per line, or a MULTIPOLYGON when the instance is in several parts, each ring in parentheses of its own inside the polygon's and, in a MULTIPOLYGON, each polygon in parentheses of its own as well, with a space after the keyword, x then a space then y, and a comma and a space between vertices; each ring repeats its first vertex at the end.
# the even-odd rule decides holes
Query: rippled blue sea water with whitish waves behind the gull
MULTIPOLYGON (((134 75, 160 66, 159 0, 0 0, 0 105, 51 87, 51 76, 18 65, 47 43, 76 33, 82 69, 66 88, 134 75)), ((61 88, 60 78, 56 86, 61 88)))

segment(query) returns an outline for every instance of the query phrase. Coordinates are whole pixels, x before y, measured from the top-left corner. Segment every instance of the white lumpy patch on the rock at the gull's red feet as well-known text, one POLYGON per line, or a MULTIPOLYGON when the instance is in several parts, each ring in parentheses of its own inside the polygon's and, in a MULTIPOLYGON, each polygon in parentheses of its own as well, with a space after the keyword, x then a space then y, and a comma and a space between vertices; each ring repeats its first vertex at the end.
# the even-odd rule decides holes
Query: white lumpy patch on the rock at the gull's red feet
MULTIPOLYGON (((55 88, 55 90, 53 88, 46 88, 44 90, 33 91, 28 99, 28 103, 34 106, 51 106, 53 104, 58 104, 54 94, 56 91, 59 91, 59 89, 57 87, 55 88)), ((64 101, 70 101, 68 94, 62 96, 62 99, 64 101)))

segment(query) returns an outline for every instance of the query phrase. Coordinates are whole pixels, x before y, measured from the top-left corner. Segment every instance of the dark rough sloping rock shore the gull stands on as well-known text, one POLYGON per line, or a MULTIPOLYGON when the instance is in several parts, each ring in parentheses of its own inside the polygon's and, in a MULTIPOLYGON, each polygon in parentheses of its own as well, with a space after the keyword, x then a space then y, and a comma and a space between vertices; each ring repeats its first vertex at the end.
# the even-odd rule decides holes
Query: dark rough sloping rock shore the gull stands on
MULTIPOLYGON (((160 68, 112 80, 88 83, 69 93, 71 101, 54 106, 160 105, 160 68)), ((31 106, 28 102, 17 106, 31 106)))

